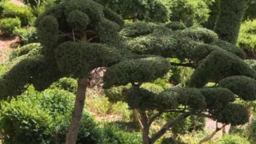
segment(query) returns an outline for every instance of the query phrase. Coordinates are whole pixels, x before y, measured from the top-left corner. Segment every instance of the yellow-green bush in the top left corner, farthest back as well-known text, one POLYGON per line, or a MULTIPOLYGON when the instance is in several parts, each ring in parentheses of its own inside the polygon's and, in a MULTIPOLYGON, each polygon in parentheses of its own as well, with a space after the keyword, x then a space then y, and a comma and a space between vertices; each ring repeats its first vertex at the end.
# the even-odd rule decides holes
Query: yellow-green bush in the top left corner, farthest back
POLYGON ((0 12, 2 18, 20 18, 21 26, 32 25, 35 21, 35 16, 27 6, 18 6, 10 1, 0 3, 0 12))

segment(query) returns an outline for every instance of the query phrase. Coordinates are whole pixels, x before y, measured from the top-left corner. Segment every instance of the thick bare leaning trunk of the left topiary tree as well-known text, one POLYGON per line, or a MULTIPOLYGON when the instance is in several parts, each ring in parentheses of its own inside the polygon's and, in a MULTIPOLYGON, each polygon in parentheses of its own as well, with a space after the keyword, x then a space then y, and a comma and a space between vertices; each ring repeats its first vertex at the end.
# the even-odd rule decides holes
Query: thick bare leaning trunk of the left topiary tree
POLYGON ((72 112, 71 123, 68 129, 66 143, 65 144, 76 144, 77 135, 79 132, 79 125, 82 118, 82 110, 85 105, 85 92, 87 88, 87 77, 85 76, 82 79, 77 81, 77 96, 74 105, 74 111, 72 112))

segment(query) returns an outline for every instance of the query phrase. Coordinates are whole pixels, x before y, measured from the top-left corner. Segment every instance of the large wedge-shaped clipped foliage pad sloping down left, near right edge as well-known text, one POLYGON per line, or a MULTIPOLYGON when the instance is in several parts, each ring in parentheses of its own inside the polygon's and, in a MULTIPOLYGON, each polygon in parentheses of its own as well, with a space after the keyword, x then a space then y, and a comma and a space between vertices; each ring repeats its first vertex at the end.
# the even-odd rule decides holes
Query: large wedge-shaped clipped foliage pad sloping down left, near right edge
POLYGON ((199 88, 208 82, 218 83, 221 79, 234 75, 256 78, 256 72, 238 56, 216 49, 198 65, 191 76, 190 86, 199 88))

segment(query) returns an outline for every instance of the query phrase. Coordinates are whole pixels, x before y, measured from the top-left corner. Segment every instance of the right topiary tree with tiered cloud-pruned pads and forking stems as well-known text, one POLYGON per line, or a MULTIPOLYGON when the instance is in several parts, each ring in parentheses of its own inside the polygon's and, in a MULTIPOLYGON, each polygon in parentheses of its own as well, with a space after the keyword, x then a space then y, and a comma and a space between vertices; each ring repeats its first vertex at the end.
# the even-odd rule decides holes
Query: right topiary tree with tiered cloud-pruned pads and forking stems
MULTIPOLYGON (((244 106, 233 103, 236 97, 256 100, 256 71, 241 58, 242 50, 221 41, 215 32, 204 28, 171 30, 165 24, 137 22, 120 32, 127 48, 138 54, 109 67, 103 88, 109 100, 124 101, 138 109, 143 125, 143 144, 154 144, 165 132, 188 116, 208 117, 232 125, 248 121, 244 106), (166 58, 177 58, 180 63, 166 58), (170 70, 170 65, 194 68, 186 87, 162 89, 150 84, 170 70), (209 82, 215 83, 207 87, 209 82), (131 85, 130 85, 131 83, 131 85), (151 85, 151 86, 148 86, 151 85), (150 113, 154 115, 150 116, 150 113), (162 128, 150 136, 150 126, 163 113, 174 112, 162 128)), ((216 132, 200 141, 212 138, 216 132)))

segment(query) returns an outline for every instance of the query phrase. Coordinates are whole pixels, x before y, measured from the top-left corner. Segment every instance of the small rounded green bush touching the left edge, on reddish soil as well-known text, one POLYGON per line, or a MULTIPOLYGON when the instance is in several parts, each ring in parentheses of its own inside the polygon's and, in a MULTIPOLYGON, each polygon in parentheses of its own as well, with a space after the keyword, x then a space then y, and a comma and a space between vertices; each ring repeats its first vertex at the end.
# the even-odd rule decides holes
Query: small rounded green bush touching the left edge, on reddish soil
POLYGON ((6 35, 12 35, 16 28, 21 27, 19 18, 3 18, 0 21, 0 29, 6 35))

